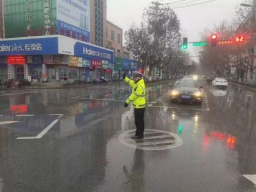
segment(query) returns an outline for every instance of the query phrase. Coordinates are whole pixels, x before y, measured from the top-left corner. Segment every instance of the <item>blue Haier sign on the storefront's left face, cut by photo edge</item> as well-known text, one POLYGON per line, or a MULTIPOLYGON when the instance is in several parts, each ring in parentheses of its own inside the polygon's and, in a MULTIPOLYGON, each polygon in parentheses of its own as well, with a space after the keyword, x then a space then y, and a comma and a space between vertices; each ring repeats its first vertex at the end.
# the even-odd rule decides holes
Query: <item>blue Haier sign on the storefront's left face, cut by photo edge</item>
POLYGON ((0 56, 58 54, 57 45, 58 37, 0 40, 0 56))

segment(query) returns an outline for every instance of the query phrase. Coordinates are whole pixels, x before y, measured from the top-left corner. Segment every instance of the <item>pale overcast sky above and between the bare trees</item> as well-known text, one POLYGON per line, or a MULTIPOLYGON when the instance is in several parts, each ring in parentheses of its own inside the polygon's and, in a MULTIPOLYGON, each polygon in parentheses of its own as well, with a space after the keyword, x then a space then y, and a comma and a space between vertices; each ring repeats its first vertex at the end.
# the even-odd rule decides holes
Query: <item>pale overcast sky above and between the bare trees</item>
MULTIPOLYGON (((162 0, 159 3, 171 3, 180 0, 162 0)), ((184 0, 183 5, 191 5, 209 0, 184 0), (194 1, 193 3, 188 3, 194 1)), ((247 0, 249 3, 251 0, 247 0)), ((107 19, 123 29, 123 34, 133 23, 139 25, 143 9, 152 5, 149 0, 107 0, 107 19)), ((245 0, 217 0, 201 5, 175 9, 181 22, 183 35, 188 37, 188 42, 200 41, 199 33, 206 27, 212 29, 221 20, 234 16, 236 7, 245 0)), ((176 3, 178 4, 178 3, 176 3)), ((175 4, 172 4, 175 5, 175 4)), ((180 5, 180 6, 183 6, 180 5)), ((124 40, 124 39, 123 39, 124 40)), ((188 51, 197 55, 196 50, 188 45, 188 51)), ((196 59, 197 60, 197 59, 196 59)))

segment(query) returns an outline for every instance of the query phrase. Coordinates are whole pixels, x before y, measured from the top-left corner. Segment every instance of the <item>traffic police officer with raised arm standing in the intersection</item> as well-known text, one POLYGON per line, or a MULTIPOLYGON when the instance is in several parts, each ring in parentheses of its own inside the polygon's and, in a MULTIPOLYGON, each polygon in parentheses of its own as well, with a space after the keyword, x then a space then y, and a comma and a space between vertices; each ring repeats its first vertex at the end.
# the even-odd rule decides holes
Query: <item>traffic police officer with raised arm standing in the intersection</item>
POLYGON ((133 102, 134 106, 134 119, 136 125, 136 134, 132 136, 132 139, 143 139, 144 138, 144 112, 146 106, 146 90, 143 74, 135 71, 133 73, 134 80, 125 77, 123 79, 126 83, 130 84, 133 88, 132 94, 124 103, 124 107, 127 108, 128 104, 133 102))

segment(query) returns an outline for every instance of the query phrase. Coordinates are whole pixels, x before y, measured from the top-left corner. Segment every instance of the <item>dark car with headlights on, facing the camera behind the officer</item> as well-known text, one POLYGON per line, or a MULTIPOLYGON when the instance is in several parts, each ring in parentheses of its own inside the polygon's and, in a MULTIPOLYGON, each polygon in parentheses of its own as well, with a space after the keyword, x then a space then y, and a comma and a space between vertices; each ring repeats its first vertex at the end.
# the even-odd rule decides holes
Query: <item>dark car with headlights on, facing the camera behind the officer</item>
MULTIPOLYGON (((172 87, 172 86, 171 86, 172 87)), ((203 94, 196 81, 190 79, 180 79, 175 82, 175 86, 170 91, 170 102, 192 102, 201 104, 203 94)))

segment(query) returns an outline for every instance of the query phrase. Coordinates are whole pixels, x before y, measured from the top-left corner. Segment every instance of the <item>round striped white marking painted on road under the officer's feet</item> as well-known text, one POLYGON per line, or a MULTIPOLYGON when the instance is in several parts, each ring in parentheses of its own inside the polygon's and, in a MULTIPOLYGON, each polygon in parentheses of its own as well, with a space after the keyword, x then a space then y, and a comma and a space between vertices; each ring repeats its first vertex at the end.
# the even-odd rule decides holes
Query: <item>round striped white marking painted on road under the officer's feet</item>
POLYGON ((172 133, 161 130, 145 130, 144 139, 134 140, 131 137, 136 130, 128 130, 118 136, 118 140, 126 146, 140 150, 167 150, 183 144, 182 139, 172 133))

